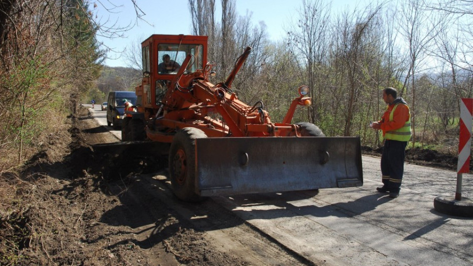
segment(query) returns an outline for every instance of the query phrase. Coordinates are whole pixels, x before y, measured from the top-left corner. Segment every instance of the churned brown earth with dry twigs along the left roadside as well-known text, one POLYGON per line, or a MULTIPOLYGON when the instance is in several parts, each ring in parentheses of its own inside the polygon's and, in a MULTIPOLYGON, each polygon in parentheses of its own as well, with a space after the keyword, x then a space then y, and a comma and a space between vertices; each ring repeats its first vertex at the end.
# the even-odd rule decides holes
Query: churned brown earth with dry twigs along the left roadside
POLYGON ((137 173, 163 170, 163 157, 89 145, 98 126, 81 111, 67 137, 1 176, 0 265, 245 265, 140 191, 137 173))

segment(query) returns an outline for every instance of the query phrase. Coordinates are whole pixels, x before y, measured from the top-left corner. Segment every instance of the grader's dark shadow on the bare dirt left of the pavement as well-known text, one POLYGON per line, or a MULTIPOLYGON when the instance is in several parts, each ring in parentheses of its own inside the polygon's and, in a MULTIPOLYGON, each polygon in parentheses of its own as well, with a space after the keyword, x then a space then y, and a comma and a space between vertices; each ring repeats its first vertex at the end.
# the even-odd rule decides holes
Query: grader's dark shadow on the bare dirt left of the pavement
MULTIPOLYGON (((161 171, 162 176, 167 170, 161 171)), ((144 234, 146 239, 126 239, 141 248, 166 243, 176 235, 196 237, 206 231, 234 228, 244 223, 230 211, 211 199, 199 203, 183 202, 170 191, 167 179, 155 180, 150 175, 136 176, 130 184, 116 181, 109 184, 120 205, 102 214, 101 222, 111 226, 125 226, 130 232, 144 234)))

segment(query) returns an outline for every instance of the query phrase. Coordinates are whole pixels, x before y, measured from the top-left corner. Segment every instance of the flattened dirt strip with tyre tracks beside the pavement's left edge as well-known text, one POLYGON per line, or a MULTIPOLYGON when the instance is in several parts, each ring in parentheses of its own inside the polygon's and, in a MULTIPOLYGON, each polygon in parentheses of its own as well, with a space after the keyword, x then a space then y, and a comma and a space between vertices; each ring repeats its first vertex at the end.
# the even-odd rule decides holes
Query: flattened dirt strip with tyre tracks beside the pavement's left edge
POLYGON ((115 216, 115 222, 132 228, 141 248, 153 252, 166 245, 177 246, 177 257, 200 260, 183 247, 193 245, 196 238, 201 245, 198 252, 217 255, 221 265, 232 264, 230 261, 256 266, 314 265, 255 231, 212 199, 200 203, 179 201, 170 191, 166 175, 167 171, 162 171, 156 176, 135 176, 125 190, 119 182, 110 186, 122 202, 120 211, 115 210, 121 213, 115 216), (182 236, 180 243, 176 243, 175 235, 182 236))

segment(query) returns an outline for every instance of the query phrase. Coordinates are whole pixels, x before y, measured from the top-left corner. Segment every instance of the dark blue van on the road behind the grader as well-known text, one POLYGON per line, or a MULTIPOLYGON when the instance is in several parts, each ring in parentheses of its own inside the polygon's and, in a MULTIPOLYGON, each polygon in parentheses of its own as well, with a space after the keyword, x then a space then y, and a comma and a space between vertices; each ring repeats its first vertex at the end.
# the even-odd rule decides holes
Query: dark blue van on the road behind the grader
POLYGON ((108 94, 107 106, 107 125, 113 124, 113 129, 117 130, 122 125, 123 114, 125 112, 125 105, 123 100, 127 99, 133 105, 136 104, 135 92, 110 92, 108 94))

